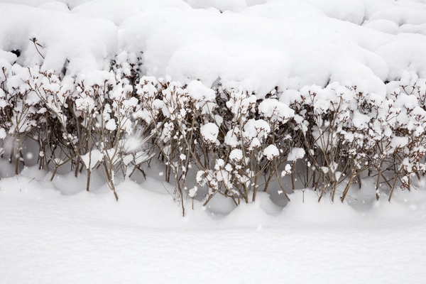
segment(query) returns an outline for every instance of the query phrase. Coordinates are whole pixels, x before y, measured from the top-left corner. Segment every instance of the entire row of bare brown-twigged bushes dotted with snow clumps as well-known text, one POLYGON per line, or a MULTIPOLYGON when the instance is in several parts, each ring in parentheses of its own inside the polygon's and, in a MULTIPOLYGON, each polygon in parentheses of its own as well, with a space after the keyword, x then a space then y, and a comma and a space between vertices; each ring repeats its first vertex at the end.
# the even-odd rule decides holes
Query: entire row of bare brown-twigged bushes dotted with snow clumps
POLYGON ((129 177, 158 156, 183 210, 184 197, 199 188, 207 188, 206 204, 217 194, 251 202, 271 185, 285 195, 310 187, 319 200, 330 193, 344 201, 365 175, 376 180, 376 197, 386 188, 390 200, 425 173, 426 82, 413 74, 389 82, 386 96, 332 83, 259 98, 220 84, 139 77, 140 67, 141 58, 127 53, 109 71, 78 77, 1 66, 0 154, 10 150, 18 174, 32 139, 52 178, 72 165, 75 175, 87 172, 89 190, 90 174, 101 168, 117 200, 115 175, 129 177))

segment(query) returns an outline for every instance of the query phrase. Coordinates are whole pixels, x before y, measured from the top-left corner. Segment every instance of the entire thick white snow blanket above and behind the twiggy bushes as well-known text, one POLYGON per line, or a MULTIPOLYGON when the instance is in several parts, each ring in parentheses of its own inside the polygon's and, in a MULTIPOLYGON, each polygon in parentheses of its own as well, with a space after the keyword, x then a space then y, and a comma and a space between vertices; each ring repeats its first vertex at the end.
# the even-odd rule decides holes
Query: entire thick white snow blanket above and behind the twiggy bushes
POLYGON ((143 53, 143 75, 257 97, 329 82, 383 96, 426 77, 425 35, 415 0, 0 0, 1 65, 78 75, 143 53))

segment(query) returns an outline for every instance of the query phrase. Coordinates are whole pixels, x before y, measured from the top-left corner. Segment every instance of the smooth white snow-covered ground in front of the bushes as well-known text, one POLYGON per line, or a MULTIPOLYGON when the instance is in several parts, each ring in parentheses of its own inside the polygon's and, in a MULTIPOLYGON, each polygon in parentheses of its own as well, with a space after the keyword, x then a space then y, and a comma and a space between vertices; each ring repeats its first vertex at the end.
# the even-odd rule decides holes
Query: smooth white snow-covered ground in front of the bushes
POLYGON ((105 186, 85 192, 84 178, 58 175, 53 184, 43 181, 48 177, 31 168, 0 181, 1 283, 426 278, 424 190, 398 192, 391 204, 386 198, 369 203, 371 197, 360 195, 353 207, 318 204, 312 192, 298 191, 284 209, 259 194, 255 203, 226 215, 214 209, 214 200, 204 209, 195 202, 182 218, 170 195, 152 191, 164 188, 152 178, 141 185, 122 182, 116 202, 105 186), (69 185, 80 190, 67 195, 69 185))

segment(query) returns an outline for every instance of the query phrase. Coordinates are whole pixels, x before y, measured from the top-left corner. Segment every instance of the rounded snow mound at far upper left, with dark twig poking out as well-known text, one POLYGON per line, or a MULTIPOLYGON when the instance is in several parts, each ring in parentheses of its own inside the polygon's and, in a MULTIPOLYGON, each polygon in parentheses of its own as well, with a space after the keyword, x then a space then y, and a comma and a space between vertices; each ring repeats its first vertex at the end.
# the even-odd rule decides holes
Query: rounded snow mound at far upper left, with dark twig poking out
POLYGON ((42 65, 43 71, 58 72, 66 67, 70 75, 103 70, 117 45, 118 30, 111 21, 0 4, 0 49, 19 50, 20 65, 42 65))

